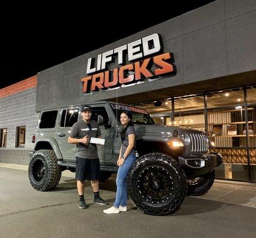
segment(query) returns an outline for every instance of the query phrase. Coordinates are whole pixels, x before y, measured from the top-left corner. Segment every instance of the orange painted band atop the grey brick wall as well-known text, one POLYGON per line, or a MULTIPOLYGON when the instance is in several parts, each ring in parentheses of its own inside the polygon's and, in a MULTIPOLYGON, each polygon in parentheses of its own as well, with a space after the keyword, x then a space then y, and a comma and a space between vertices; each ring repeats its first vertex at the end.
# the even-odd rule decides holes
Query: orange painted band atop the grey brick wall
POLYGON ((0 98, 5 98, 7 96, 13 95, 15 93, 22 92, 32 87, 36 87, 38 83, 38 76, 32 76, 29 79, 22 80, 21 82, 14 83, 8 87, 0 89, 0 98))

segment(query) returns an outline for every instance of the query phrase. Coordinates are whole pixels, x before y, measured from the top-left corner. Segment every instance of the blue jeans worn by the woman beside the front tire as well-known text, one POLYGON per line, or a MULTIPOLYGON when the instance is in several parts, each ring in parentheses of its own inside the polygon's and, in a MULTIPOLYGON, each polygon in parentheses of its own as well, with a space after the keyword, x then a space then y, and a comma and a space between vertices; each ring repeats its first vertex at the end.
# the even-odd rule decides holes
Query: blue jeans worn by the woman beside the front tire
POLYGON ((133 163, 136 161, 136 155, 130 154, 124 159, 124 162, 121 167, 118 168, 117 179, 117 195, 115 196, 114 206, 118 208, 121 206, 126 206, 127 204, 127 182, 126 178, 129 173, 130 168, 133 163))

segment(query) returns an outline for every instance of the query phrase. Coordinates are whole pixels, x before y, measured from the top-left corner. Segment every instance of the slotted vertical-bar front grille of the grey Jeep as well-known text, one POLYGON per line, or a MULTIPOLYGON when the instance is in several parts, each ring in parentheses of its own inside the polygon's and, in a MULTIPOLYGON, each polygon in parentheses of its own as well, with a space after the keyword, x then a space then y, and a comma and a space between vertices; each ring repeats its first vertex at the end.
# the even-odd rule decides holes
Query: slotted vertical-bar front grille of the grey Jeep
POLYGON ((206 152, 208 150, 207 137, 204 134, 188 134, 192 152, 206 152))

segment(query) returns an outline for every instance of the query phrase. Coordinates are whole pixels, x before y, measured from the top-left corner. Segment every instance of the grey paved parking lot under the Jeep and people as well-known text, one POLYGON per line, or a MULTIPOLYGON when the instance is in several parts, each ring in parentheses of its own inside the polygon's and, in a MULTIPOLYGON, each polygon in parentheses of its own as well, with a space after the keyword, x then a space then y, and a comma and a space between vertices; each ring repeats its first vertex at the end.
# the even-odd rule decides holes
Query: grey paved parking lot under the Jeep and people
MULTIPOLYGON (((107 215, 106 206, 92 203, 89 183, 90 207, 79 209, 73 177, 63 176, 51 192, 38 192, 26 167, 17 168, 0 167, 0 237, 256 237, 255 184, 217 180, 206 195, 187 196, 165 217, 145 215, 132 202, 127 212, 107 215)), ((113 203, 114 176, 100 187, 102 198, 113 203)))

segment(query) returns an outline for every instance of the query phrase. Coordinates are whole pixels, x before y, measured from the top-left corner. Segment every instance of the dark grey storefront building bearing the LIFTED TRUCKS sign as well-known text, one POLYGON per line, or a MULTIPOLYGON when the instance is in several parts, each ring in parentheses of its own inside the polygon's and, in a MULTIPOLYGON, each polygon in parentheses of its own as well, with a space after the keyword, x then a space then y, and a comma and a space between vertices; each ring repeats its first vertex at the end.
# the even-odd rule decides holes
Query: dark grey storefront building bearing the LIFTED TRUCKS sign
POLYGON ((255 1, 212 2, 39 72, 36 112, 138 105, 157 123, 208 133, 224 155, 218 177, 255 181, 255 26, 255 1))

